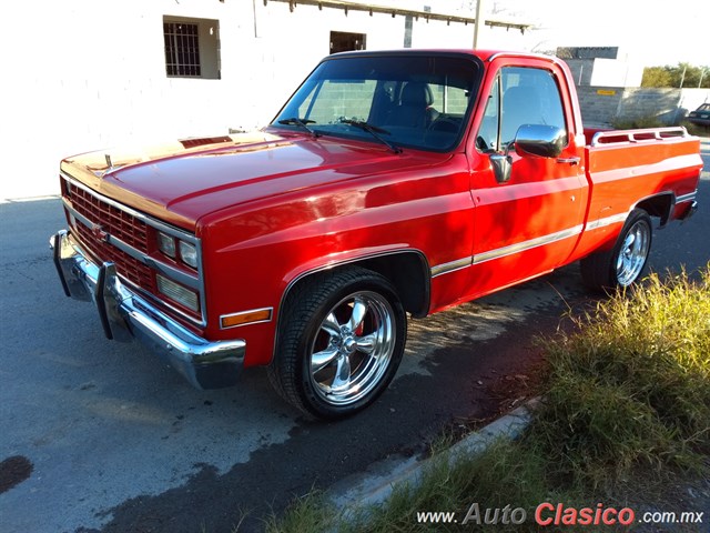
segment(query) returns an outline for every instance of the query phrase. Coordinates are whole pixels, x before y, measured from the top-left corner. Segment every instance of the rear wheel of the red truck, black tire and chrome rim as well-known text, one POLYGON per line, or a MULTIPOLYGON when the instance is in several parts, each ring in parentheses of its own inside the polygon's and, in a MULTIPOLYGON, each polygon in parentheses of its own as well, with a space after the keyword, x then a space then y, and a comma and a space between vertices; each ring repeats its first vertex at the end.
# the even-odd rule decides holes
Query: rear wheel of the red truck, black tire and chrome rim
POLYGON ((635 209, 626 220, 611 250, 592 253, 579 263, 589 289, 609 291, 631 285, 641 276, 651 250, 651 218, 635 209))

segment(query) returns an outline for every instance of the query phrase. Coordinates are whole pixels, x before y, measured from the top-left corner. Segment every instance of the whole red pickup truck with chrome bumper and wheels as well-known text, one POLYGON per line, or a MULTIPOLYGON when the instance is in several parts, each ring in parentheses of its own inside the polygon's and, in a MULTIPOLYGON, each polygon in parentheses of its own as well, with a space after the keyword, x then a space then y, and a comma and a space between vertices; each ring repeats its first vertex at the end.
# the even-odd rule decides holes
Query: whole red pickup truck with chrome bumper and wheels
POLYGON ((578 260, 592 288, 635 282, 651 218, 697 208, 699 151, 682 128, 584 130, 556 58, 342 53, 256 133, 63 160, 54 262, 109 339, 197 388, 267 365, 336 419, 390 382, 407 315, 578 260))

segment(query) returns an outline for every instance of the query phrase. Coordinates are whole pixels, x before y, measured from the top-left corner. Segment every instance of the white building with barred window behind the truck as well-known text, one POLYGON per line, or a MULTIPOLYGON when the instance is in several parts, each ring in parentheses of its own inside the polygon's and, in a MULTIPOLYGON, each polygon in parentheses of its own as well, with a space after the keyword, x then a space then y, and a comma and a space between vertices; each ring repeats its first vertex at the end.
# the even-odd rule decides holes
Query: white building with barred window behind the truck
MULTIPOLYGON (((372 14, 317 3, 13 2, 0 37, 0 199, 55 194, 60 159, 78 152, 263 125, 332 47, 473 44, 473 24, 437 19, 436 3, 390 1, 372 14), (395 12, 405 4, 432 17, 395 12)), ((479 43, 525 50, 525 37, 516 24, 485 27, 479 43)))

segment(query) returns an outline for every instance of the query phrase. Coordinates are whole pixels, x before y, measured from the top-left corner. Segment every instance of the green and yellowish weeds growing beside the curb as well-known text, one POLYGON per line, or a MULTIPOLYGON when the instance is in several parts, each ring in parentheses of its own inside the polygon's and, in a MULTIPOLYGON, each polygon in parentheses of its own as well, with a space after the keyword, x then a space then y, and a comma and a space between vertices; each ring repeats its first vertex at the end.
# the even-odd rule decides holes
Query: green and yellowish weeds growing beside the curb
POLYGON ((669 473, 707 474, 710 263, 697 281, 684 272, 666 280, 652 274, 574 320, 574 333, 544 341, 547 392, 523 439, 453 464, 440 452, 417 486, 397 486, 384 505, 347 520, 308 496, 272 517, 267 531, 460 531, 419 523, 417 513, 456 511, 460 520, 479 502, 481 509, 515 503, 530 516, 545 501, 613 501, 620 489, 639 484, 652 497, 669 473))

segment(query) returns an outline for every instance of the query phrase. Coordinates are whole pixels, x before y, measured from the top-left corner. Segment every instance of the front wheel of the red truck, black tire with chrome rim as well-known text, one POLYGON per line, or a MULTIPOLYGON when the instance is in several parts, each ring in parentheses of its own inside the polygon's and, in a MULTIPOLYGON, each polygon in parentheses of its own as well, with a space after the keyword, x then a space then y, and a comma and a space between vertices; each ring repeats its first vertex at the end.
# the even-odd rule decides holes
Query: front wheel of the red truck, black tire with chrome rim
POLYGON ((406 314, 389 281, 347 268, 307 278, 288 294, 268 376, 302 412, 349 416, 382 394, 399 366, 406 314))

